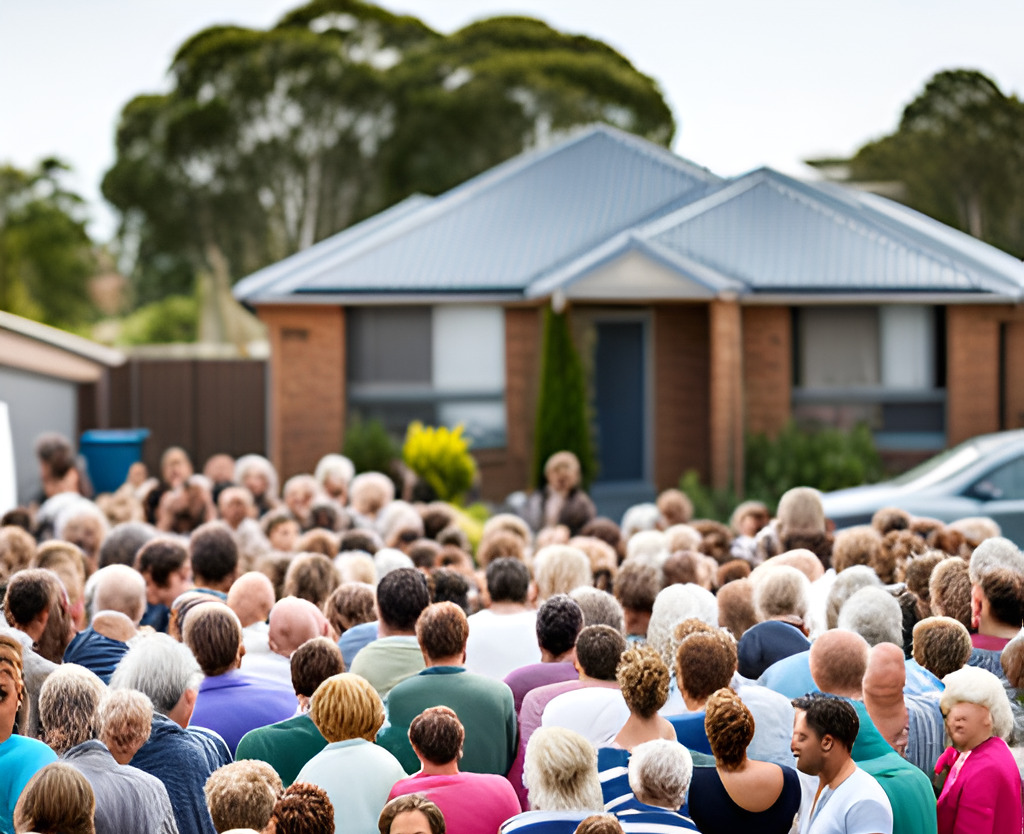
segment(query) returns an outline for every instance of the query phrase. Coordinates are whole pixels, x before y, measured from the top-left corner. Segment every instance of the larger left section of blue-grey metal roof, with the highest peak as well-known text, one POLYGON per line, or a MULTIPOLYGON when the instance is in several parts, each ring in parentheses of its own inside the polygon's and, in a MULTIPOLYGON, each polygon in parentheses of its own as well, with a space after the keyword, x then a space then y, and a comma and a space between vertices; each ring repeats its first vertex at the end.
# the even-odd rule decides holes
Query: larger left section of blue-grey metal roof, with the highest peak
POLYGON ((390 210, 242 281, 247 303, 296 294, 521 294, 616 233, 721 178, 632 134, 595 125, 406 210, 390 210), (368 225, 369 224, 369 225, 368 225))

